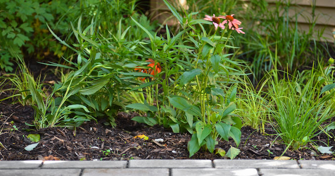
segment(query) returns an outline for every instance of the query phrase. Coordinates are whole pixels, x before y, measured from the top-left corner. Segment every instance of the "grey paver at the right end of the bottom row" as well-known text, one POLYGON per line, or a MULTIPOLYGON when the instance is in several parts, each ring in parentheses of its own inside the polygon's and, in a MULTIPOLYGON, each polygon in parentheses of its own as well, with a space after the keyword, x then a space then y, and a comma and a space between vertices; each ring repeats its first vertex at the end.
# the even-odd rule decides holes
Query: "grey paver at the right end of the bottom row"
POLYGON ((262 176, 335 176, 332 170, 319 169, 260 169, 262 176))

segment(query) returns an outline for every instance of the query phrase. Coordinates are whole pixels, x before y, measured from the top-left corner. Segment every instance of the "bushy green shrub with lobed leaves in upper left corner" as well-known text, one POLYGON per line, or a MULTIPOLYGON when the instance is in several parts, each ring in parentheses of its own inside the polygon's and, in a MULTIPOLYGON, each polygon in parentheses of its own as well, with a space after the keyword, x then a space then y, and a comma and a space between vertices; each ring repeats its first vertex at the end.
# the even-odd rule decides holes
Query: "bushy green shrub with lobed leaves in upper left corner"
MULTIPOLYGON (((0 2, 0 64, 1 69, 12 71, 13 58, 31 55, 42 59, 49 52, 62 54, 56 41, 51 40, 46 23, 67 31, 69 18, 56 24, 66 8, 75 0, 2 0, 0 2), (61 26, 63 25, 63 26, 61 26)), ((60 55, 59 55, 60 57, 60 55)))

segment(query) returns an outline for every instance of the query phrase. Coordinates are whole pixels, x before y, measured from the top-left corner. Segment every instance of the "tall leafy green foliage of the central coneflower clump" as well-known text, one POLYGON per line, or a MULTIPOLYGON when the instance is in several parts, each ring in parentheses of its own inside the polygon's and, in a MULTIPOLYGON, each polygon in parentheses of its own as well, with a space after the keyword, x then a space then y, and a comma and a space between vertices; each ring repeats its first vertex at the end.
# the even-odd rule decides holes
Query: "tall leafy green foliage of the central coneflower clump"
POLYGON ((160 71, 157 74, 147 74, 153 69, 151 67, 146 70, 150 64, 144 67, 145 63, 134 62, 132 68, 142 72, 132 75, 144 77, 140 78, 144 81, 148 77, 150 82, 154 82, 146 82, 147 87, 143 87, 143 84, 139 86, 142 90, 145 88, 151 92, 146 95, 146 99, 155 101, 144 100, 144 103, 134 103, 127 107, 146 112, 147 116, 142 119, 134 117, 137 122, 148 125, 157 122, 165 127, 169 126, 175 133, 188 131, 193 134, 188 143, 190 156, 201 147, 213 152, 218 138, 227 141, 232 138, 238 146, 242 122, 239 117, 231 114, 236 108, 235 83, 238 83, 234 76, 244 74, 240 68, 243 65, 230 60, 228 57, 232 54, 222 54, 226 52, 225 48, 227 51, 233 48, 230 38, 232 30, 220 31, 220 35, 209 34, 203 24, 211 23, 194 19, 192 15, 197 13, 184 13, 181 16, 166 0, 165 3, 181 26, 174 36, 170 35, 168 26, 166 38, 154 36, 132 19, 150 40, 144 40, 141 47, 134 51, 144 58, 153 58, 152 65, 156 65, 154 68, 160 71), (139 68, 141 66, 143 69, 139 68), (152 104, 146 105, 146 102, 152 104), (155 115, 151 115, 153 112, 155 115))

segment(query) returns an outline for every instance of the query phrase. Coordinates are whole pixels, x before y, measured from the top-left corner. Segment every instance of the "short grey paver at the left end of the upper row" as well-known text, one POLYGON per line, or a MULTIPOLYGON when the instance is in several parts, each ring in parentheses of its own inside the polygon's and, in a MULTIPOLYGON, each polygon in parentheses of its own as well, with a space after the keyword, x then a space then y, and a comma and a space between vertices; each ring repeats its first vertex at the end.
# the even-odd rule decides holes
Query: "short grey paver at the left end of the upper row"
POLYGON ((0 161, 0 169, 34 169, 39 168, 41 160, 0 161))

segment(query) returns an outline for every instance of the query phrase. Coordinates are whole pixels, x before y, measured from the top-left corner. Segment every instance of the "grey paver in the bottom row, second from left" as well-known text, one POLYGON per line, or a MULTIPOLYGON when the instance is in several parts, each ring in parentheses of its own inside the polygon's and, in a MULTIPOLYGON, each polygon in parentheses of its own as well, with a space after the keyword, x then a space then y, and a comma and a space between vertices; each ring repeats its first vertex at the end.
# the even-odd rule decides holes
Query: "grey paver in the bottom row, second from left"
POLYGON ((85 169, 82 176, 168 176, 168 169, 85 169))

